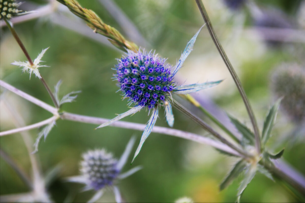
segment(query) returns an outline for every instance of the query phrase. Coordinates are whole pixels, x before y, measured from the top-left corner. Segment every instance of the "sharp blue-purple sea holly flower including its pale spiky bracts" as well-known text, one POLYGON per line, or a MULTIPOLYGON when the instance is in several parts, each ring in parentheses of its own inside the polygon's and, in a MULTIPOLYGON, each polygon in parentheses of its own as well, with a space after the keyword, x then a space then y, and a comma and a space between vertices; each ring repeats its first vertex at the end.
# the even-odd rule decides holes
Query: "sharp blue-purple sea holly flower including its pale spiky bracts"
POLYGON ((118 86, 120 86, 123 97, 128 98, 130 104, 135 103, 135 107, 123 114, 119 114, 117 117, 100 125, 98 128, 110 125, 123 117, 140 111, 143 108, 148 108, 152 112, 152 115, 144 129, 132 161, 134 161, 135 157, 140 152, 143 143, 152 131, 152 127, 156 123, 160 107, 164 107, 167 123, 170 127, 173 127, 174 116, 170 104, 171 96, 173 94, 188 94, 197 92, 208 87, 216 86, 222 81, 219 80, 216 82, 205 82, 181 86, 177 86, 177 84, 173 81, 175 74, 182 67, 188 54, 191 53, 195 40, 202 27, 188 42, 178 63, 172 68, 169 64, 165 64, 166 59, 157 57, 157 55, 154 53, 152 54, 151 52, 133 52, 128 50, 126 56, 118 59, 118 64, 115 66, 115 70, 117 71, 117 74, 114 75, 115 79, 118 81, 118 86), (137 69, 136 74, 133 73, 135 72, 133 71, 134 69, 137 69), (125 79, 128 79, 128 82, 126 82, 125 79), (131 81, 137 79, 135 80, 137 82, 130 82, 130 79, 131 81))

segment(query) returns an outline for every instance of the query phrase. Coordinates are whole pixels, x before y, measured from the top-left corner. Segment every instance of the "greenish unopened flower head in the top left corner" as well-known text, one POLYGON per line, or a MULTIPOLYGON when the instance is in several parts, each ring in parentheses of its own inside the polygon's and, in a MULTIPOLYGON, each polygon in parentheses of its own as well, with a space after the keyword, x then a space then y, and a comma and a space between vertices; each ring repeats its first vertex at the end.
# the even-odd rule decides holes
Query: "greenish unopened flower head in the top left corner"
POLYGON ((0 19, 10 19, 20 13, 21 10, 17 9, 18 5, 15 0, 0 0, 0 19))

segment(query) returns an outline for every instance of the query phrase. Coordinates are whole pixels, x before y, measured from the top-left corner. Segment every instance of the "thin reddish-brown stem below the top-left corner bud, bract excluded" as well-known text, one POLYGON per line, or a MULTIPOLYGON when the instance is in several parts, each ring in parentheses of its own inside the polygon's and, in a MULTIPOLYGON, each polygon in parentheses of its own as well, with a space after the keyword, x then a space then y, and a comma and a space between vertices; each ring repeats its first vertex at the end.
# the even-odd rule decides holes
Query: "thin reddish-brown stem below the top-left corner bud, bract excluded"
MULTIPOLYGON (((21 50, 23 51, 24 55, 27 57, 27 60, 29 61, 30 65, 31 65, 31 66, 34 66, 34 63, 33 63, 32 59, 30 58, 29 53, 28 53, 27 50, 25 49, 25 47, 24 47, 22 41, 20 40, 18 34, 16 33, 16 30, 14 29, 13 24, 12 24, 9 20, 7 20, 7 19, 5 19, 5 18, 4 18, 4 21, 5 21, 6 25, 7 25, 7 27, 9 28, 9 30, 11 31, 11 33, 13 34, 15 40, 16 40, 17 43, 19 44, 19 46, 20 46, 21 50)), ((56 99, 55 99, 53 93, 51 92, 50 88, 48 87, 47 83, 45 82, 45 80, 43 79, 42 76, 41 76, 41 78, 40 78, 40 81, 41 81, 42 84, 45 86, 45 89, 48 91, 49 95, 51 96, 51 99, 52 99, 52 101, 53 101, 53 103, 54 103, 56 109, 59 109, 59 106, 58 106, 58 104, 57 104, 57 101, 56 101, 56 99)))

